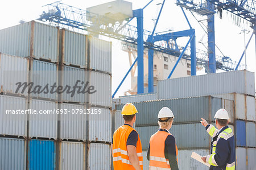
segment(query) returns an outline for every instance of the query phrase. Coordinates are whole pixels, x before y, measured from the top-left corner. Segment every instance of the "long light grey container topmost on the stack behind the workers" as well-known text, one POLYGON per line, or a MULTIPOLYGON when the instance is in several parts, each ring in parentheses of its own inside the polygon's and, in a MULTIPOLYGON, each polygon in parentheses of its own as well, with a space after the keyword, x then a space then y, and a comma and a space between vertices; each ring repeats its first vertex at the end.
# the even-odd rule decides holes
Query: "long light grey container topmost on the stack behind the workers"
POLYGON ((233 71, 158 81, 159 99, 208 96, 234 92, 255 96, 254 73, 233 71))

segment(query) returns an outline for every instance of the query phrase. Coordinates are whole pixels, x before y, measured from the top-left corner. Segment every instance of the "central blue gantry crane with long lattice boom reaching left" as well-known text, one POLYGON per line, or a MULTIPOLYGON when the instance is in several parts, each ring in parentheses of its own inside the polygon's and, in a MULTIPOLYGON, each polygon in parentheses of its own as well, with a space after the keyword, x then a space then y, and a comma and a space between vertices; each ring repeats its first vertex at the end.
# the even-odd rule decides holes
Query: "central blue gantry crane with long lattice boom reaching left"
MULTIPOLYGON (((79 9, 77 7, 65 5, 61 2, 54 2, 48 4, 46 6, 49 7, 48 13, 43 11, 43 14, 40 15, 38 20, 41 21, 49 21, 57 24, 61 24, 63 26, 68 26, 72 28, 77 28, 80 30, 88 31, 92 34, 96 35, 104 35, 109 38, 114 38, 121 40, 126 43, 137 45, 138 48, 138 56, 135 59, 134 63, 131 65, 129 71, 126 73, 125 77, 119 84, 118 88, 115 90, 112 97, 114 97, 117 90, 122 85, 122 82, 125 80, 133 65, 137 62, 138 65, 138 93, 144 93, 144 82, 143 82, 143 51, 144 48, 148 48, 148 93, 153 92, 153 53, 154 51, 166 53, 168 55, 177 56, 177 62, 172 69, 168 78, 171 77, 174 72, 176 65, 179 63, 181 58, 185 60, 191 60, 191 75, 196 75, 196 66, 201 65, 203 67, 207 67, 208 60, 203 57, 196 57, 196 44, 195 44, 195 30, 192 29, 191 25, 188 22, 187 16, 184 15, 187 19, 190 29, 179 31, 179 32, 170 32, 167 31, 165 34, 155 33, 156 24, 158 23, 159 16, 163 9, 163 5, 165 0, 162 3, 162 7, 160 9, 158 19, 156 20, 154 30, 147 31, 143 29, 143 9, 147 7, 152 1, 147 3, 142 9, 133 10, 133 17, 127 19, 126 21, 117 22, 117 20, 113 20, 106 16, 98 15, 90 13, 89 11, 79 9), (133 19, 137 18, 137 27, 132 26, 129 22, 133 19), (189 37, 188 43, 184 48, 179 49, 179 46, 176 43, 177 38, 187 36, 189 37), (175 42, 174 47, 169 45, 169 41, 173 40, 175 42), (165 45, 161 45, 161 44, 165 45), (185 53, 188 45, 190 43, 191 53, 188 55, 185 53)), ((233 71, 234 64, 236 62, 230 60, 218 60, 218 69, 222 69, 224 71, 233 71)))

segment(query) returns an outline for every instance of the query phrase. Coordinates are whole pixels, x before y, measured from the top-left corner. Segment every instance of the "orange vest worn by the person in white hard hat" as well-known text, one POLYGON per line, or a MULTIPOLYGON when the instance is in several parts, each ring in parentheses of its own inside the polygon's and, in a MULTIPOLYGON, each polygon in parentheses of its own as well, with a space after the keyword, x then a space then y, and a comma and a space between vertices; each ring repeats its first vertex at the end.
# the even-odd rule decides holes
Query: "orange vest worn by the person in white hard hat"
MULTIPOLYGON (((150 137, 150 169, 170 169, 169 160, 164 156, 166 138, 170 133, 158 131, 150 137)), ((177 145, 176 157, 177 157, 177 145)))

